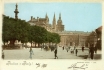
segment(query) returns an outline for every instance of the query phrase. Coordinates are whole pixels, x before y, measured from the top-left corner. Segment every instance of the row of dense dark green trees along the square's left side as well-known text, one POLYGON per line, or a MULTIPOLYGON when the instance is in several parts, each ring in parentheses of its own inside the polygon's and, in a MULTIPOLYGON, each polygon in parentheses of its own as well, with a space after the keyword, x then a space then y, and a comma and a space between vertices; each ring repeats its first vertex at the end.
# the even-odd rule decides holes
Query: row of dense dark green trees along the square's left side
POLYGON ((2 41, 5 45, 10 41, 10 45, 15 45, 15 41, 22 43, 32 42, 41 43, 59 43, 60 36, 57 33, 51 33, 40 26, 31 26, 24 20, 16 20, 3 15, 2 41))

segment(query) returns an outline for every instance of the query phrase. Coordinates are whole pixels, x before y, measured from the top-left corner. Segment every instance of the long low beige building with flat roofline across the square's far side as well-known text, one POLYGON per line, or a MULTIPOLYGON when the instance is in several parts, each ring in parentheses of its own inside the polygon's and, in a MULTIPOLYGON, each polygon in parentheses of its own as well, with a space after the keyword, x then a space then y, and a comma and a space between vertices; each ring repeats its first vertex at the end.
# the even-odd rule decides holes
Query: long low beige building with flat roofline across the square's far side
POLYGON ((79 46, 88 47, 89 42, 87 41, 91 32, 83 31, 63 31, 58 32, 61 36, 60 46, 79 46))

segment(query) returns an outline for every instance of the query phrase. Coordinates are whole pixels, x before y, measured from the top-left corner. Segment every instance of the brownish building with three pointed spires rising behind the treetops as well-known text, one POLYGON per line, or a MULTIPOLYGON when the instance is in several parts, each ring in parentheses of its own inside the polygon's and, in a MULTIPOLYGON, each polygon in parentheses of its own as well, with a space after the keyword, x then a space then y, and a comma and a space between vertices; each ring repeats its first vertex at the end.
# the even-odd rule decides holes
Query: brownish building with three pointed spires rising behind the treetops
POLYGON ((62 25, 61 14, 59 15, 59 20, 57 21, 57 24, 56 24, 55 14, 53 17, 52 25, 49 23, 49 18, 47 14, 45 18, 39 18, 39 17, 33 18, 33 16, 31 16, 31 19, 28 22, 30 23, 30 25, 37 25, 44 27, 46 30, 50 32, 64 31, 64 25, 62 25))

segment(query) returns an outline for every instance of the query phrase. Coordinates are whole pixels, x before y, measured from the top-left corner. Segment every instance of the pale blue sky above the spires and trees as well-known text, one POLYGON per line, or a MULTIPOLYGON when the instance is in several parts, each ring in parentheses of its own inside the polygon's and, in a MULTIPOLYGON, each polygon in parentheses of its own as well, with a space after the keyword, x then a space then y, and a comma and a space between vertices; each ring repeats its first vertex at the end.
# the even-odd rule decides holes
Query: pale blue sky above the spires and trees
MULTIPOLYGON (((16 3, 5 3, 4 14, 15 17, 16 3)), ((18 3, 18 18, 29 21, 31 16, 44 18, 46 13, 52 24, 55 13, 56 20, 61 13, 66 31, 94 31, 102 25, 101 3, 18 3)))

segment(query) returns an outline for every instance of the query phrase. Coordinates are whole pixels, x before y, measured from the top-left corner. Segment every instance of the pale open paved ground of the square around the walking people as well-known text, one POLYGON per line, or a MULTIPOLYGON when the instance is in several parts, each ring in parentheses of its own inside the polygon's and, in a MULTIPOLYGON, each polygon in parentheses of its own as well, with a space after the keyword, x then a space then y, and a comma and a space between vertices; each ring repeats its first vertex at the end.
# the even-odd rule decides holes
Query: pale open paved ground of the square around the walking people
MULTIPOLYGON (((81 48, 78 50, 78 55, 71 54, 70 51, 58 47, 58 59, 88 59, 88 49, 82 52, 81 48)), ((33 59, 54 59, 54 52, 41 50, 40 48, 33 48, 33 59)), ((4 50, 5 59, 30 59, 29 58, 29 49, 20 49, 20 50, 4 50)), ((98 51, 95 54, 94 59, 101 59, 101 51, 98 51)))

